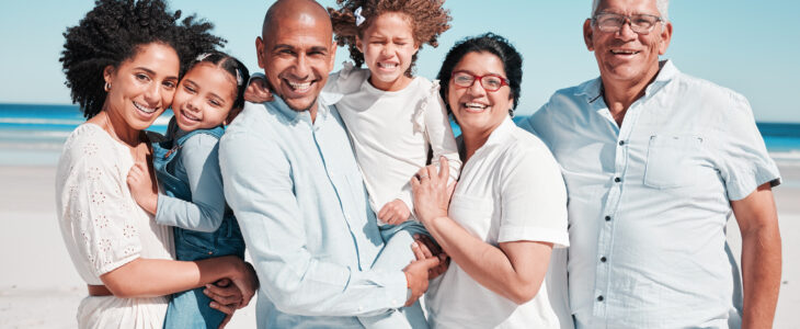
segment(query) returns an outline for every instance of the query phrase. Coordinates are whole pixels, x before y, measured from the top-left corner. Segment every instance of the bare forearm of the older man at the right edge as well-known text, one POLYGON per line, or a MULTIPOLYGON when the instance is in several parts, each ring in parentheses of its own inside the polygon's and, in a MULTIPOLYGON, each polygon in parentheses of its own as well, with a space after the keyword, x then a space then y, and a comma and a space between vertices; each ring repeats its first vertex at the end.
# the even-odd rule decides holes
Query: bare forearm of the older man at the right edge
POLYGON ((772 328, 780 290, 780 231, 769 183, 731 207, 742 232, 742 328, 772 328))

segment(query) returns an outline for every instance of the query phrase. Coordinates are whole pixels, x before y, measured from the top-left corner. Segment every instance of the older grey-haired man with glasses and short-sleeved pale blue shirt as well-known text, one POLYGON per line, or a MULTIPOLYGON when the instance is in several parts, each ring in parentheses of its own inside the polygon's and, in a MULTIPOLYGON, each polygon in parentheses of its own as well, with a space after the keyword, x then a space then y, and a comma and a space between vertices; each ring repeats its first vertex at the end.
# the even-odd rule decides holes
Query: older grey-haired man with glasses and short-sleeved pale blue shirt
POLYGON ((778 169, 744 97, 659 60, 672 37, 667 5, 595 0, 583 32, 601 77, 556 92, 521 124, 548 144, 567 182, 575 325, 769 328, 778 169), (731 214, 741 279, 725 240, 731 214))

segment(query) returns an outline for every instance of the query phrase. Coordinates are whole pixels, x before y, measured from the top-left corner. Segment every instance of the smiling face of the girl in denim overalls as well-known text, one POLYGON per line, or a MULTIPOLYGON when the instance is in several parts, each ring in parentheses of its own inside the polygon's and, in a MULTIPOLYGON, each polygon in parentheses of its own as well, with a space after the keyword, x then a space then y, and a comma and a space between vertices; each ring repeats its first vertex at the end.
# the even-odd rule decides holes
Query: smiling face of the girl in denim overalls
POLYGON ((222 124, 236 101, 237 84, 226 70, 210 63, 195 65, 181 80, 172 111, 184 132, 222 124))

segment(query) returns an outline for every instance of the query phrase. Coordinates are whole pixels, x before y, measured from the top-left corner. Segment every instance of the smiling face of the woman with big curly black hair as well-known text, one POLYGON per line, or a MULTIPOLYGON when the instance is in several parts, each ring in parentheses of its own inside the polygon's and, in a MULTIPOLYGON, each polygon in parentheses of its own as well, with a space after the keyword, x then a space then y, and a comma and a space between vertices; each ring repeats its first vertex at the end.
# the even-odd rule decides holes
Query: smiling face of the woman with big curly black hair
POLYGON ((112 121, 144 131, 172 104, 178 84, 178 53, 164 44, 138 47, 136 55, 114 67, 106 67, 103 78, 111 84, 104 111, 112 121))

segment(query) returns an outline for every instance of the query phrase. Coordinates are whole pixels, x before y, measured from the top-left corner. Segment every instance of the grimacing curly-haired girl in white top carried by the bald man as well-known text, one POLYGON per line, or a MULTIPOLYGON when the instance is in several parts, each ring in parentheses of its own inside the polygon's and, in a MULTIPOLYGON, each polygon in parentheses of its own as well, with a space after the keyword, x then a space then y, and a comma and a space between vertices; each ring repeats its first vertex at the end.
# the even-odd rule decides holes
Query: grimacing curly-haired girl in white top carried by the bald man
POLYGON ((345 64, 323 92, 341 98, 336 109, 379 224, 398 225, 413 218, 409 179, 427 164, 430 150, 434 163, 449 160, 452 181, 458 178, 458 149, 438 83, 412 76, 416 52, 425 43, 437 45, 450 16, 444 1, 342 2, 329 9, 336 42, 350 47, 356 67, 368 69, 345 64))

